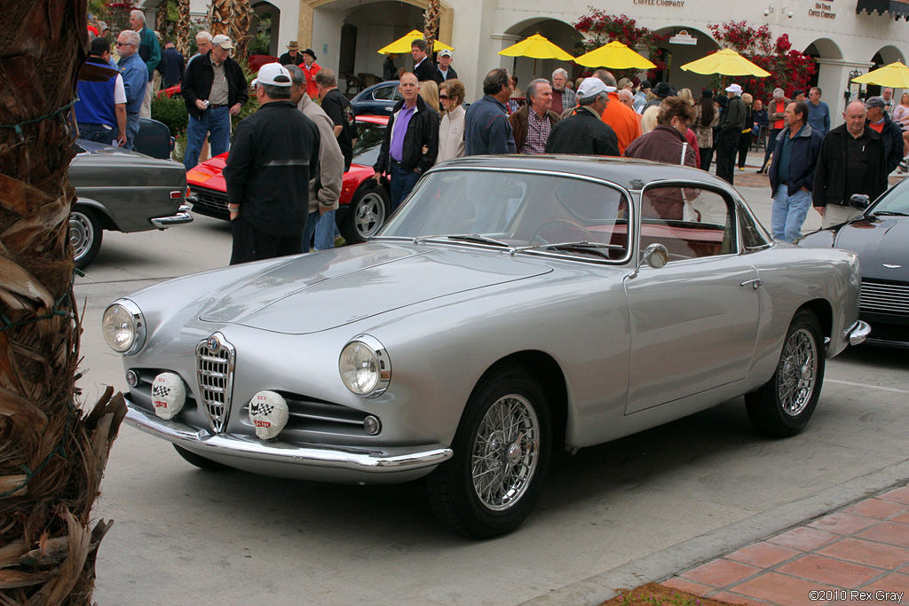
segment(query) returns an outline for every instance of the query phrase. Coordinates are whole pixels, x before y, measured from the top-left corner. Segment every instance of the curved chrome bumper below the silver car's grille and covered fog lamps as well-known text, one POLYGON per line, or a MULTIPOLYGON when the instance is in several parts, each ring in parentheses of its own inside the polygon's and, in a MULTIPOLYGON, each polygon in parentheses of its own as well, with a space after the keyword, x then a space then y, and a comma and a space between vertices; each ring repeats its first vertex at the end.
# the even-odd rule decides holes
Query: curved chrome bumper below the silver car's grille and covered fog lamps
POLYGON ((237 456, 257 461, 285 463, 309 467, 335 468, 353 472, 409 472, 445 462, 454 452, 441 444, 402 446, 397 448, 365 448, 287 442, 263 442, 255 437, 233 433, 213 434, 181 422, 165 421, 154 413, 145 412, 126 401, 126 422, 143 432, 164 438, 196 451, 237 456))

